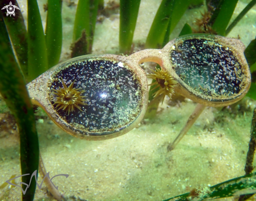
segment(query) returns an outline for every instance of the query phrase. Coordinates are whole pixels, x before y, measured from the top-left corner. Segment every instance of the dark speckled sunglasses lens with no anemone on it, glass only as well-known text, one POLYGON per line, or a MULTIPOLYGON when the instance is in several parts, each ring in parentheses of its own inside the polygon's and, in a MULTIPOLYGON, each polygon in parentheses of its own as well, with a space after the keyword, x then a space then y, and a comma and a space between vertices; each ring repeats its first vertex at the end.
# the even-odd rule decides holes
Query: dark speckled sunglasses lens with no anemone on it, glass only
POLYGON ((186 85, 207 97, 227 98, 240 93, 246 76, 234 49, 216 39, 179 40, 170 56, 176 74, 186 85))

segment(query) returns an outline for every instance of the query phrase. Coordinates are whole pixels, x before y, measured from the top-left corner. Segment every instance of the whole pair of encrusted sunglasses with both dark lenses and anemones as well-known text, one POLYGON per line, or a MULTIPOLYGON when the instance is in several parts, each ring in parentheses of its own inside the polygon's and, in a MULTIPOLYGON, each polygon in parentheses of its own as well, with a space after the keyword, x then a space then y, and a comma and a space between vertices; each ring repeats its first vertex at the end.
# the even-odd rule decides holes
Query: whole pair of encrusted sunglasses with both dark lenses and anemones
POLYGON ((240 100, 251 75, 240 40, 208 34, 186 35, 161 50, 123 55, 84 55, 53 66, 28 85, 40 106, 65 132, 86 140, 123 135, 142 120, 148 107, 148 80, 139 66, 161 66, 149 78, 155 96, 182 96, 210 107, 240 100))

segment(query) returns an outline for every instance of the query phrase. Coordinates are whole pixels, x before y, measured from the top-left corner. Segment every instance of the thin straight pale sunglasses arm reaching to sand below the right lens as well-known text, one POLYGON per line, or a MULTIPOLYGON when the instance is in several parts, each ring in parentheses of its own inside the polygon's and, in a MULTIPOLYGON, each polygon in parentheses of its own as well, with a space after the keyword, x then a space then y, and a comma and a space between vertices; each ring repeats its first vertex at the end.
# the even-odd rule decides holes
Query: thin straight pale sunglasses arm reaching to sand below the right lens
POLYGON ((184 135, 186 135, 188 130, 191 128, 191 126, 193 126, 193 124, 195 123, 197 118, 200 116, 200 114, 204 111, 205 107, 206 107, 205 105, 197 103, 195 110, 188 118, 187 123, 181 130, 180 134, 175 138, 173 143, 167 147, 168 151, 173 150, 177 146, 177 144, 181 141, 184 135))

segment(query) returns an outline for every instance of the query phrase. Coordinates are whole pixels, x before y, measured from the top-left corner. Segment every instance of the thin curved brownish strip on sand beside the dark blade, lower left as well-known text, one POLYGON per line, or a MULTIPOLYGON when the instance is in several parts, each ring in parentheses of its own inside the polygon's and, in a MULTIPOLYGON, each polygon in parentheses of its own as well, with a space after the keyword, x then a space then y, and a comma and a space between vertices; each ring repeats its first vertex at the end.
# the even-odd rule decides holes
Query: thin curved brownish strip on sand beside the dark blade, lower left
POLYGON ((39 153, 39 173, 41 174, 42 179, 44 178, 44 184, 46 184, 48 190, 52 194, 52 196, 58 201, 65 200, 59 193, 59 191, 52 185, 50 179, 46 176, 46 168, 44 167, 41 153, 39 153))

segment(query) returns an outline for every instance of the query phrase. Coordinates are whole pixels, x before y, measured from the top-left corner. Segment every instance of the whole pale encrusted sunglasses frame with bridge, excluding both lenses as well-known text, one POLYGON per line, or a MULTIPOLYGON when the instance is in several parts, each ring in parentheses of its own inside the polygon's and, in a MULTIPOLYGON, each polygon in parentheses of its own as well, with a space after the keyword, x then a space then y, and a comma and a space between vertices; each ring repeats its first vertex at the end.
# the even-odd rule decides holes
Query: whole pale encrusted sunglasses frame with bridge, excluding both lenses
POLYGON ((40 106, 48 116, 52 119, 52 121, 57 124, 63 131, 69 133, 72 136, 85 139, 85 140, 105 140, 114 137, 118 137, 120 135, 124 135, 125 133, 131 131, 134 127, 136 127, 139 122, 142 120, 144 114, 146 113, 148 107, 148 80, 146 73, 144 70, 139 66, 139 64, 143 62, 155 62, 158 63, 163 69, 167 70, 167 72, 178 82, 174 87, 174 90, 177 93, 180 93, 182 96, 191 99, 197 103, 201 103, 210 107, 223 107, 226 105, 230 105, 232 103, 237 102, 240 100, 245 94, 248 92, 251 83, 251 74, 249 70, 249 66, 246 62, 246 58, 243 55, 245 47, 240 40, 237 39, 230 39, 215 35, 209 34, 194 34, 183 36, 177 39, 173 39, 168 44, 164 46, 163 49, 147 49, 142 50, 136 53, 133 53, 129 56, 123 55, 114 55, 114 54, 104 54, 104 55, 84 55, 75 58, 71 58, 68 61, 62 62, 50 68, 47 72, 40 75, 35 80, 32 80, 28 85, 29 95, 31 97, 32 104, 36 104, 40 106), (185 82, 175 73, 174 65, 171 62, 170 54, 171 51, 175 49, 175 45, 181 44, 184 40, 187 39, 206 39, 214 41, 220 45, 228 47, 229 50, 233 52, 238 58, 240 65, 242 66, 242 73, 244 75, 244 87, 240 90, 240 93, 235 94, 231 97, 210 97, 206 96, 205 94, 198 93, 192 87, 185 84, 185 82), (120 128, 120 131, 116 132, 81 132, 79 128, 75 128, 74 126, 70 125, 68 122, 62 119, 62 117, 58 114, 56 109, 51 103, 50 98, 48 97, 50 84, 52 81, 52 76, 56 70, 61 70, 66 66, 71 64, 85 61, 85 60, 106 60, 112 62, 121 62, 124 66, 127 66, 131 69, 132 72, 136 74, 136 77, 140 84, 141 89, 141 109, 140 114, 137 118, 120 128))

